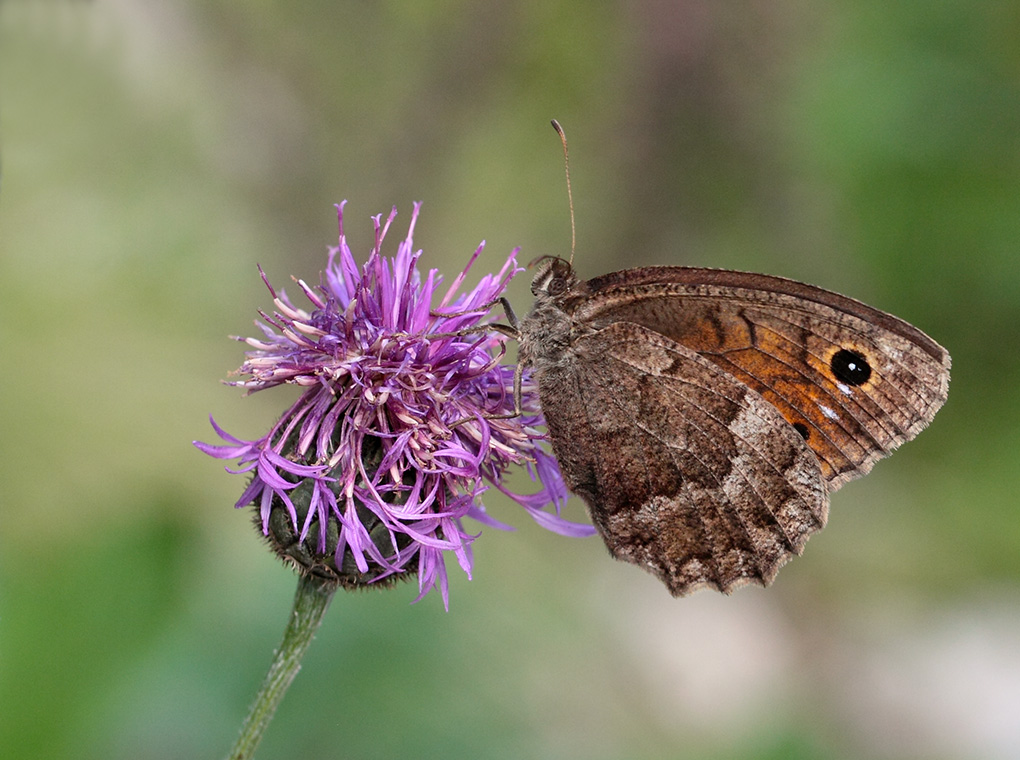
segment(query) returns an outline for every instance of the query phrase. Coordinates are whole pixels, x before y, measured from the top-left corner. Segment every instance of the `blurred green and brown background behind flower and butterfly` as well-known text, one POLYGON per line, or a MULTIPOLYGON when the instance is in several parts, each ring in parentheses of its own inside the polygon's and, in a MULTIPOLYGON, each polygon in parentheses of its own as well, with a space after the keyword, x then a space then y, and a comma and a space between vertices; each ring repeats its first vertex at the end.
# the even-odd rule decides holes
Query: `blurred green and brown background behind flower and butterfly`
POLYGON ((13 0, 0 56, 0 755, 226 752, 295 587, 190 443, 290 401, 218 383, 256 263, 315 281, 345 198, 362 254, 423 200, 448 276, 564 253, 556 117, 583 276, 846 293, 949 403, 768 590, 674 600, 493 498, 449 613, 335 600, 258 757, 1020 756, 1020 4, 13 0))

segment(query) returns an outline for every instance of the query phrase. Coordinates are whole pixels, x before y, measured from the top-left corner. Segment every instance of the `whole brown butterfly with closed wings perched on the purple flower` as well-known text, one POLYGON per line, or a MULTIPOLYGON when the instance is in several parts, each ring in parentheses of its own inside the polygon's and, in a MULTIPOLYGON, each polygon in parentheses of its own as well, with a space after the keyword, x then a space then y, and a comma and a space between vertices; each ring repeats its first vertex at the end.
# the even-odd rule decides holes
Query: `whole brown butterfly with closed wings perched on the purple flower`
POLYGON ((584 282, 541 261, 518 375, 531 368, 567 488, 609 551, 674 596, 770 584, 825 526, 829 493, 949 392, 941 346, 820 288, 691 267, 584 282))

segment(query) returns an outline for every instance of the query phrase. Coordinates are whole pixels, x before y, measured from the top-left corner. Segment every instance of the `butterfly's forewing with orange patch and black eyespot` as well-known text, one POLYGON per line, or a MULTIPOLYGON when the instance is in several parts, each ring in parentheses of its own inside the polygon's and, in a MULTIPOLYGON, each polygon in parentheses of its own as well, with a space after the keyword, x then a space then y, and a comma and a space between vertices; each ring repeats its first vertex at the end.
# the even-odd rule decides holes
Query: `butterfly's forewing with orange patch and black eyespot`
POLYGON ((911 324, 764 274, 649 267, 590 281, 575 320, 643 324, 773 404, 834 490, 916 436, 946 400, 949 354, 911 324))

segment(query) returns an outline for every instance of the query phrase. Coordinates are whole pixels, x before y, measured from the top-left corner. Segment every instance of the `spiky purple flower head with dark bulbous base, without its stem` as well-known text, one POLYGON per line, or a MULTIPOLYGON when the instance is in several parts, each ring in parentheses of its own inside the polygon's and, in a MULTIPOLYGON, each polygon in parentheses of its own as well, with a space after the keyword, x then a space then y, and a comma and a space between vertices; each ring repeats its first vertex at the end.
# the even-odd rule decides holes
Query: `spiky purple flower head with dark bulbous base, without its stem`
POLYGON ((210 456, 238 459, 228 471, 252 473, 236 506, 255 504, 262 534, 303 572, 347 588, 416 573, 417 599, 438 582, 444 605, 447 552, 471 574, 477 537, 463 518, 507 527, 481 504, 490 486, 544 527, 594 534, 560 516, 567 492, 537 429, 545 422, 534 384, 525 374, 520 416, 493 418, 514 410, 514 367, 499 363, 497 334, 467 332, 486 323, 521 271, 516 251, 499 274, 458 296, 482 243, 434 305, 442 278, 434 269, 422 282, 421 251, 412 243, 420 203, 393 258, 380 249, 397 210, 385 222, 372 217, 375 244, 361 268, 347 245, 343 208, 340 245, 329 250, 321 284, 298 281, 310 312, 262 273, 277 310, 260 312, 264 338, 245 341, 254 350, 239 370, 248 378, 231 384, 251 392, 296 385, 301 398, 263 438, 243 441, 210 418, 227 445, 195 442, 210 456), (511 464, 525 464, 541 490, 511 492, 502 483, 511 464))

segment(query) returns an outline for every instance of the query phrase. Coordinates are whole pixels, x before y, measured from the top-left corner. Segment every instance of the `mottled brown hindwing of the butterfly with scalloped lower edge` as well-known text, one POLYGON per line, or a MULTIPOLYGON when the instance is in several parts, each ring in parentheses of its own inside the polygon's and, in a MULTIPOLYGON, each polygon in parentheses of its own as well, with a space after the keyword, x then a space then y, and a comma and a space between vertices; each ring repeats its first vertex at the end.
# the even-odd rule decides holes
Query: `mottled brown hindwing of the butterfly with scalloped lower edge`
POLYGON ((825 524, 818 463, 731 375, 628 322, 540 373, 553 449, 614 556, 674 595, 767 584, 825 524))

